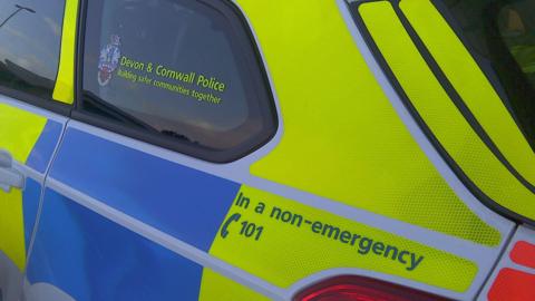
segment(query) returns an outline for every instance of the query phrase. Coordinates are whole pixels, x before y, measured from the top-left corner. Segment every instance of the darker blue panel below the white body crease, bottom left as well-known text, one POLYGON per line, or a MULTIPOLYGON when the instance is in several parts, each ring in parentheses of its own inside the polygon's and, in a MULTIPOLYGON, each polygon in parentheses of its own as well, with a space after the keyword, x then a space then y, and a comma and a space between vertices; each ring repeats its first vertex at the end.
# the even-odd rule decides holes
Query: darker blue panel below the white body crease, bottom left
POLYGON ((79 301, 197 300, 202 266, 47 190, 30 283, 79 301))

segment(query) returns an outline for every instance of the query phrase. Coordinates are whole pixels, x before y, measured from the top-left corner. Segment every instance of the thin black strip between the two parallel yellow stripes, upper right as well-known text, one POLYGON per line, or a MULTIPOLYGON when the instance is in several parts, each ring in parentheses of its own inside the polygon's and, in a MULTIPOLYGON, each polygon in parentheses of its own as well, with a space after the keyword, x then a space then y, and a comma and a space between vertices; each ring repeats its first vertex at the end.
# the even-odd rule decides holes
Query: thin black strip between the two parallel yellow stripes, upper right
POLYGON ((425 42, 418 36, 418 32, 416 32, 416 30, 410 25, 407 17, 403 14, 401 9, 399 8, 399 2, 398 2, 398 4, 393 4, 393 10, 396 11, 396 14, 398 16, 399 20, 403 25, 405 30, 407 31, 407 33, 411 38, 412 42, 415 43, 416 48, 420 52, 421 57, 424 58, 424 60, 426 60, 427 65, 429 66, 429 68, 432 71, 432 74, 435 75, 435 77, 438 79, 438 81, 442 86, 444 90, 448 94, 449 98, 454 101, 457 109, 460 111, 460 114, 463 114, 463 116, 468 122, 468 124, 471 126, 471 128, 477 134, 477 136, 479 136, 479 138, 490 149, 490 152, 494 154, 494 156, 499 159, 499 162, 509 171, 509 173, 512 173, 516 177, 516 179, 518 179, 532 193, 535 193, 535 186, 532 183, 529 183, 529 181, 527 181, 524 176, 522 176, 521 173, 518 173, 518 171, 516 171, 516 168, 507 161, 505 155, 499 151, 499 148, 493 142, 490 136, 488 136, 485 128, 476 119, 476 117, 474 116, 471 110, 465 104, 465 101, 463 100, 463 97, 460 97, 460 95, 457 93, 457 90, 455 89, 451 81, 449 81, 447 76, 440 69, 438 62, 435 60, 431 52, 426 47, 425 42))

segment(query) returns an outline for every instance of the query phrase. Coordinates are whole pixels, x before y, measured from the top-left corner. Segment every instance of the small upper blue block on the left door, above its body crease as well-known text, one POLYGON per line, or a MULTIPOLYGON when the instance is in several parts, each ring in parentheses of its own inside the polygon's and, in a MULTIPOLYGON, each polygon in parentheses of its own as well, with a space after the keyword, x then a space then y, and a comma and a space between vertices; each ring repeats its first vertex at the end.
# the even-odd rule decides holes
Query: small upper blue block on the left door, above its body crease
POLYGON ((39 136, 33 149, 31 151, 26 164, 37 171, 40 174, 43 174, 47 171, 48 164, 52 158, 54 151, 58 144, 59 137, 61 135, 62 125, 52 120, 48 120, 45 125, 45 128, 39 136))

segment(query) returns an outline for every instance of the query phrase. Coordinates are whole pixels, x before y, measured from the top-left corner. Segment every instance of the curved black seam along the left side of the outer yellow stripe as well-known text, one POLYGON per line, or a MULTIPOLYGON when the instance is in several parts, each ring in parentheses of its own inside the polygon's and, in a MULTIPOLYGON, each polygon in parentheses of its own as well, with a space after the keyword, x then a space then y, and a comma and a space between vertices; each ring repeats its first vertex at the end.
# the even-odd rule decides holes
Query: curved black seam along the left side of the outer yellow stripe
MULTIPOLYGON (((403 88, 397 80, 393 71, 391 70, 390 66, 387 64, 385 57, 380 52, 378 46, 373 41, 373 38, 371 37, 370 32, 368 31, 368 28, 366 27, 364 21, 360 17, 360 13, 358 12, 358 9, 361 4, 363 3, 370 3, 370 2, 390 2, 388 0, 363 0, 359 2, 352 2, 349 3, 350 12, 353 17, 353 20, 357 25, 357 28, 359 29, 360 33, 362 35, 362 38, 364 39, 368 48, 372 52, 376 61, 378 65, 381 67, 382 71, 385 72, 385 76, 388 78, 390 84, 392 85, 393 89, 397 91, 398 96, 400 97, 401 101, 403 103, 403 106, 407 108, 407 110, 412 115, 412 118, 415 122, 418 124, 420 129, 424 132, 424 134, 427 136, 429 142, 435 146, 437 152, 441 155, 441 157, 445 159, 445 162, 448 164, 448 166, 454 171, 454 173, 457 175, 457 177, 465 184, 465 186, 487 207, 492 208, 493 211, 510 219, 519 223, 526 223, 531 225, 535 225, 535 221, 528 219, 527 216, 521 215, 516 212, 513 212, 508 210, 507 207, 502 206, 494 200, 492 200, 488 195, 486 195, 474 182, 465 174, 465 172, 460 168, 460 166, 454 161, 454 158, 448 154, 446 148, 440 144, 440 142, 437 139, 435 134, 432 134, 431 129, 429 126, 426 124, 424 118, 420 116, 416 107, 412 105, 410 101, 409 97, 405 93, 403 88)), ((397 6, 399 2, 396 1, 392 3, 392 7, 397 6)))

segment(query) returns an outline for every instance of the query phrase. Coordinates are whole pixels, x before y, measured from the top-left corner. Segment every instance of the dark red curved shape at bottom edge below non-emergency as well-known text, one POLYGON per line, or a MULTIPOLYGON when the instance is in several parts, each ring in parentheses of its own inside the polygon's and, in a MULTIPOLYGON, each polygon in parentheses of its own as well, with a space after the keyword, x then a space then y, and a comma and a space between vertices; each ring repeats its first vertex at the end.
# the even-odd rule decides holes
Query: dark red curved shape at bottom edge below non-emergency
POLYGON ((295 301, 428 301, 448 300, 398 284, 363 276, 338 276, 300 292, 295 301))

